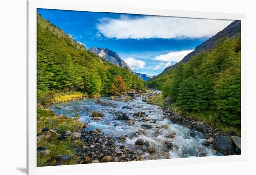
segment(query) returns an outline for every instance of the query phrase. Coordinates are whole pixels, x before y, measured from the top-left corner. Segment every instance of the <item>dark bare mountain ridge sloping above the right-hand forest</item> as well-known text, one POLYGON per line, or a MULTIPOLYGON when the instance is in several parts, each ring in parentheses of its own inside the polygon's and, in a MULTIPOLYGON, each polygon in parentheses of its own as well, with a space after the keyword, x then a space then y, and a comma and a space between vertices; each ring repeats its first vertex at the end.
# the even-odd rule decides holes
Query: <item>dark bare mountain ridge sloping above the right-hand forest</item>
MULTIPOLYGON (((220 37, 236 38, 236 36, 240 33, 241 33, 241 21, 233 21, 225 29, 218 32, 216 35, 214 35, 213 37, 209 38, 207 41, 197 46, 194 51, 186 55, 179 63, 186 63, 190 60, 192 56, 199 54, 202 50, 204 51, 204 50, 209 50, 213 48, 216 45, 218 38, 220 37)), ((176 68, 177 66, 178 64, 175 64, 165 68, 160 75, 176 68)))

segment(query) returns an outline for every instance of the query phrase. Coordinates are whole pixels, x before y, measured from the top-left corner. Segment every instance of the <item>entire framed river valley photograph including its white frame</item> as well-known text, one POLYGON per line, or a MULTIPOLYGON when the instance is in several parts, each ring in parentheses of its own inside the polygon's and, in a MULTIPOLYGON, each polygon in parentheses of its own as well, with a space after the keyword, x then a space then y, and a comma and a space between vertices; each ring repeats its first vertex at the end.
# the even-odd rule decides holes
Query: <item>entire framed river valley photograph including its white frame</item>
POLYGON ((245 160, 245 15, 29 0, 27 22, 28 174, 245 160))

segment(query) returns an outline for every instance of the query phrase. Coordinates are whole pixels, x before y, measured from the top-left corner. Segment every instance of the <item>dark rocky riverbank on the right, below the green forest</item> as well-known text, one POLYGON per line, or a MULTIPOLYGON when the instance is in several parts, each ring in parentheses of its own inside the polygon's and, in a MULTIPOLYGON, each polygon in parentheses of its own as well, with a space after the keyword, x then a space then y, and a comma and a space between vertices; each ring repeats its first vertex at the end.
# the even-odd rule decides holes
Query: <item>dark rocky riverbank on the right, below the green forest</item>
MULTIPOLYGON (((141 94, 145 101, 150 101, 149 99, 159 95, 157 92, 149 94, 141 94)), ((170 104, 170 98, 165 100, 165 103, 170 104)), ((170 119, 173 123, 178 123, 184 125, 191 129, 190 136, 195 136, 193 131, 201 132, 207 139, 202 144, 204 146, 209 146, 213 153, 216 154, 216 150, 222 155, 237 155, 241 154, 241 137, 237 136, 234 132, 222 132, 213 126, 206 124, 200 120, 191 119, 185 115, 180 115, 175 113, 172 109, 162 108, 164 113, 164 118, 170 119)), ((204 156, 204 154, 202 154, 204 156)))

